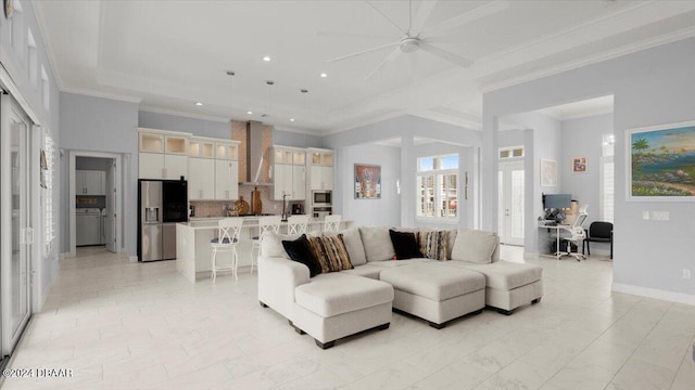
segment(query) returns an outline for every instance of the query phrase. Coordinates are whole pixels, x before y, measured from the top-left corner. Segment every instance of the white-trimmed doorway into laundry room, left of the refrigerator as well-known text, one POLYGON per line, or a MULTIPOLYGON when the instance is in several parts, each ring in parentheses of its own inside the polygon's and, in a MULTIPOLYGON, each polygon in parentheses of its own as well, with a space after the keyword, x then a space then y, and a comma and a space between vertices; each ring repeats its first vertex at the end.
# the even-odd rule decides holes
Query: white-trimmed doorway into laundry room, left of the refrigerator
POLYGON ((122 156, 71 151, 70 157, 71 255, 78 246, 125 250, 122 156))

